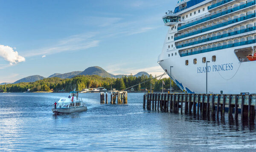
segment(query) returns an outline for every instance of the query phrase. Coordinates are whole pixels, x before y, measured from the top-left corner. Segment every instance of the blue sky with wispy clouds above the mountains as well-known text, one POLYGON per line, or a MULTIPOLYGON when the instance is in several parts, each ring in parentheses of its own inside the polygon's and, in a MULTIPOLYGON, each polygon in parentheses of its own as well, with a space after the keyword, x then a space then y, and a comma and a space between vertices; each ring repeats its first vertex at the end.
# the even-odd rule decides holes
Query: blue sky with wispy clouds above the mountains
POLYGON ((157 63, 168 31, 162 16, 177 0, 1 0, 0 83, 30 75, 145 71, 157 63))

